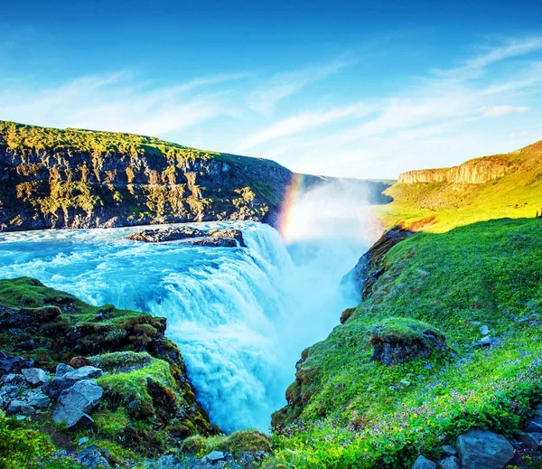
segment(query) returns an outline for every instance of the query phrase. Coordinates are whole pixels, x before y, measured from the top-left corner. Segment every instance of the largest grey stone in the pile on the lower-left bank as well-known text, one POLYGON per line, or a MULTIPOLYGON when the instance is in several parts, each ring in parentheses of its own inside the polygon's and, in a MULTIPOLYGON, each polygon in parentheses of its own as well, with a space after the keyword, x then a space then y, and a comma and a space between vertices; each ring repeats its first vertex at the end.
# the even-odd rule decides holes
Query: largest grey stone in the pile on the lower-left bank
POLYGON ((76 382, 71 388, 62 391, 57 407, 52 413, 53 421, 57 424, 64 423, 68 428, 78 423, 86 425, 93 422, 88 413, 96 407, 103 393, 103 389, 96 381, 76 382))

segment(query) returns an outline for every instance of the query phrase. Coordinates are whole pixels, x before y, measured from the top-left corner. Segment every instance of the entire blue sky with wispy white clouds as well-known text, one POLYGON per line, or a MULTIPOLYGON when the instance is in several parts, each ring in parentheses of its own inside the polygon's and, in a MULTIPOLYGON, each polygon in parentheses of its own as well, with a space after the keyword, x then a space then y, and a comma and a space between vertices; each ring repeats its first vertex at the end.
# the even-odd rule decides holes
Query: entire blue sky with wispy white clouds
POLYGON ((0 119, 395 178, 542 139, 542 2, 11 2, 0 119))

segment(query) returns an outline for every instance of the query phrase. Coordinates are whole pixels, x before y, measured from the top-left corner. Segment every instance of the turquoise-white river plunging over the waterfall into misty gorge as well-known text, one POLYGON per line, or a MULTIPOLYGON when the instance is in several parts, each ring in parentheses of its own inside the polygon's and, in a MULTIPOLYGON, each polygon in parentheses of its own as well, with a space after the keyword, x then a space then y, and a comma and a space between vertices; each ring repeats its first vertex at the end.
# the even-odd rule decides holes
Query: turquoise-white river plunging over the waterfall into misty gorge
POLYGON ((345 238, 344 230, 316 230, 329 220, 311 220, 313 229, 305 220, 286 245, 256 222, 203 224, 242 230, 247 249, 127 240, 136 228, 8 233, 0 235, 0 277, 37 277, 94 305, 165 316, 212 422, 265 430, 302 350, 351 305, 338 284, 366 244, 362 221, 352 230, 349 219, 345 238))

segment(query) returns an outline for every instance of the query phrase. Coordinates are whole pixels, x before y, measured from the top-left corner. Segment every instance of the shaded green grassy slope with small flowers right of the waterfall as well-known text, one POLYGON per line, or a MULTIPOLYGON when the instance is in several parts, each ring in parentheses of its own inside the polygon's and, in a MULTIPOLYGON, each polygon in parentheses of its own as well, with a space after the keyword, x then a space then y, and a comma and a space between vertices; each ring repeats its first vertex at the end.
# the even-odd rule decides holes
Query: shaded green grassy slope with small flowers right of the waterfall
POLYGON ((276 413, 273 464, 410 467, 468 427, 513 431, 542 399, 542 220, 417 233, 385 265, 346 324, 304 352, 287 396, 306 404, 276 413), (435 325, 457 356, 369 361, 389 317, 435 325), (481 325, 491 348, 473 344, 481 325))

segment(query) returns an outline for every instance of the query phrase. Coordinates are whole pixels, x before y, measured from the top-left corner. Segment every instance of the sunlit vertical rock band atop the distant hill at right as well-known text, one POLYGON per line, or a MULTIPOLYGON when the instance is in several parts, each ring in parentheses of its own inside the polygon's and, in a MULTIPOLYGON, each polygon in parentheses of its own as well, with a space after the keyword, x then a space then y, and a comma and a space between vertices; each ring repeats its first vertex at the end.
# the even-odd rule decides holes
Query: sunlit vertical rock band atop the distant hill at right
POLYGON ((451 168, 408 171, 399 174, 398 182, 484 184, 508 174, 511 168, 504 157, 491 156, 469 160, 451 168))

